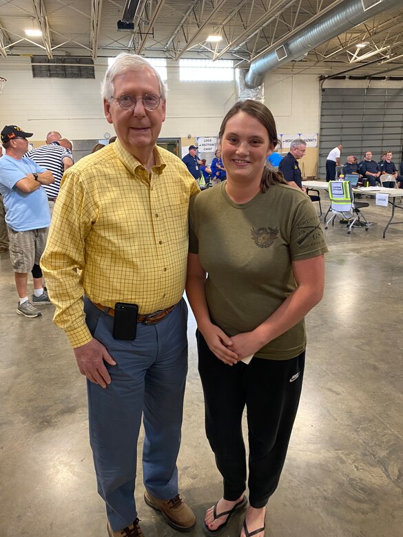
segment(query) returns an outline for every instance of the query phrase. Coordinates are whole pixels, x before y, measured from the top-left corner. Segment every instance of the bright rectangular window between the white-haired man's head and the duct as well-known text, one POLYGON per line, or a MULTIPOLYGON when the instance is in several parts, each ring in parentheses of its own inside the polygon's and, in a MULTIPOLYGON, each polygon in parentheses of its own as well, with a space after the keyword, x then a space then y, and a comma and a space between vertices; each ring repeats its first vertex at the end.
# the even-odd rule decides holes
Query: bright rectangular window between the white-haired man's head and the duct
POLYGON ((234 80, 231 60, 179 60, 181 81, 226 82, 234 80))

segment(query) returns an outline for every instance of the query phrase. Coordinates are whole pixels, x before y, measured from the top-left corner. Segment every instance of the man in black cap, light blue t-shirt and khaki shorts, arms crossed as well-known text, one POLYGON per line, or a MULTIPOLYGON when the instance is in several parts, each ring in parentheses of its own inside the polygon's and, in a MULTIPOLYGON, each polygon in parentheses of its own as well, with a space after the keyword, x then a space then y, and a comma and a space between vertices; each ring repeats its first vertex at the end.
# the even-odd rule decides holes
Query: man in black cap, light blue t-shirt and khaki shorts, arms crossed
POLYGON ((6 154, 0 159, 0 192, 6 207, 10 260, 19 294, 17 313, 28 319, 42 315, 36 304, 50 304, 43 289, 39 260, 50 224, 48 196, 42 185, 54 182, 52 172, 23 158, 31 136, 32 132, 24 132, 16 125, 4 127, 1 142, 6 154), (27 295, 30 272, 34 280, 32 302, 27 295))

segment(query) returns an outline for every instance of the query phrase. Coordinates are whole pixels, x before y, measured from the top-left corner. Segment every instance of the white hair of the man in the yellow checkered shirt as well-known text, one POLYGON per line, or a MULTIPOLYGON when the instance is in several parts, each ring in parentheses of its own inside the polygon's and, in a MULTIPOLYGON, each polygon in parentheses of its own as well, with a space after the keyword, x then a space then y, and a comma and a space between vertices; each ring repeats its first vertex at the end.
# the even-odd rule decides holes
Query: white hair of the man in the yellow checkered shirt
POLYGON ((114 63, 107 69, 105 77, 103 78, 101 84, 101 96, 105 101, 110 102, 111 98, 114 96, 114 78, 118 74, 123 74, 126 71, 140 71, 144 67, 149 67, 158 78, 158 83, 160 85, 160 94, 159 96, 165 101, 166 90, 165 85, 159 75, 158 71, 151 65, 147 60, 138 56, 137 54, 127 54, 127 52, 121 52, 116 56, 114 63))

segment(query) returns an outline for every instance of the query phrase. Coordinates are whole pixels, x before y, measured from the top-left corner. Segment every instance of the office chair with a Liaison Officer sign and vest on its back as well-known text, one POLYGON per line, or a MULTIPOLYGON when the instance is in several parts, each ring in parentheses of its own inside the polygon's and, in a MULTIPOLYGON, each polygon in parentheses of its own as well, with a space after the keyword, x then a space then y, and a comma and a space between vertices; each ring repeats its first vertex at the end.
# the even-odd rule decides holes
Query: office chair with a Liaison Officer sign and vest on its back
POLYGON ((330 222, 334 226, 336 216, 340 216, 344 220, 349 220, 347 223, 348 235, 350 235, 354 224, 357 223, 365 225, 365 231, 369 230, 369 222, 360 211, 362 207, 369 207, 369 203, 354 201, 354 193, 349 181, 329 181, 329 198, 333 214, 326 222, 324 229, 328 229, 330 222), (360 218, 364 220, 365 224, 361 224, 360 218))

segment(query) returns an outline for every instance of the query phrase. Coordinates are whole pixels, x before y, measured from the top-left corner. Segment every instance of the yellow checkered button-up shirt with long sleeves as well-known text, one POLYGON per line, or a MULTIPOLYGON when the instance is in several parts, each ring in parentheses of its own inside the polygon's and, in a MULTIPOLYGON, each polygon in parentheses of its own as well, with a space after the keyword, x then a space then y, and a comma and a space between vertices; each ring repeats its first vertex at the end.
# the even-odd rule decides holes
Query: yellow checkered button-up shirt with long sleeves
POLYGON ((118 140, 66 171, 41 267, 54 322, 73 347, 91 341, 83 294, 152 313, 179 302, 186 278, 189 199, 199 188, 169 151, 148 171, 118 140))

